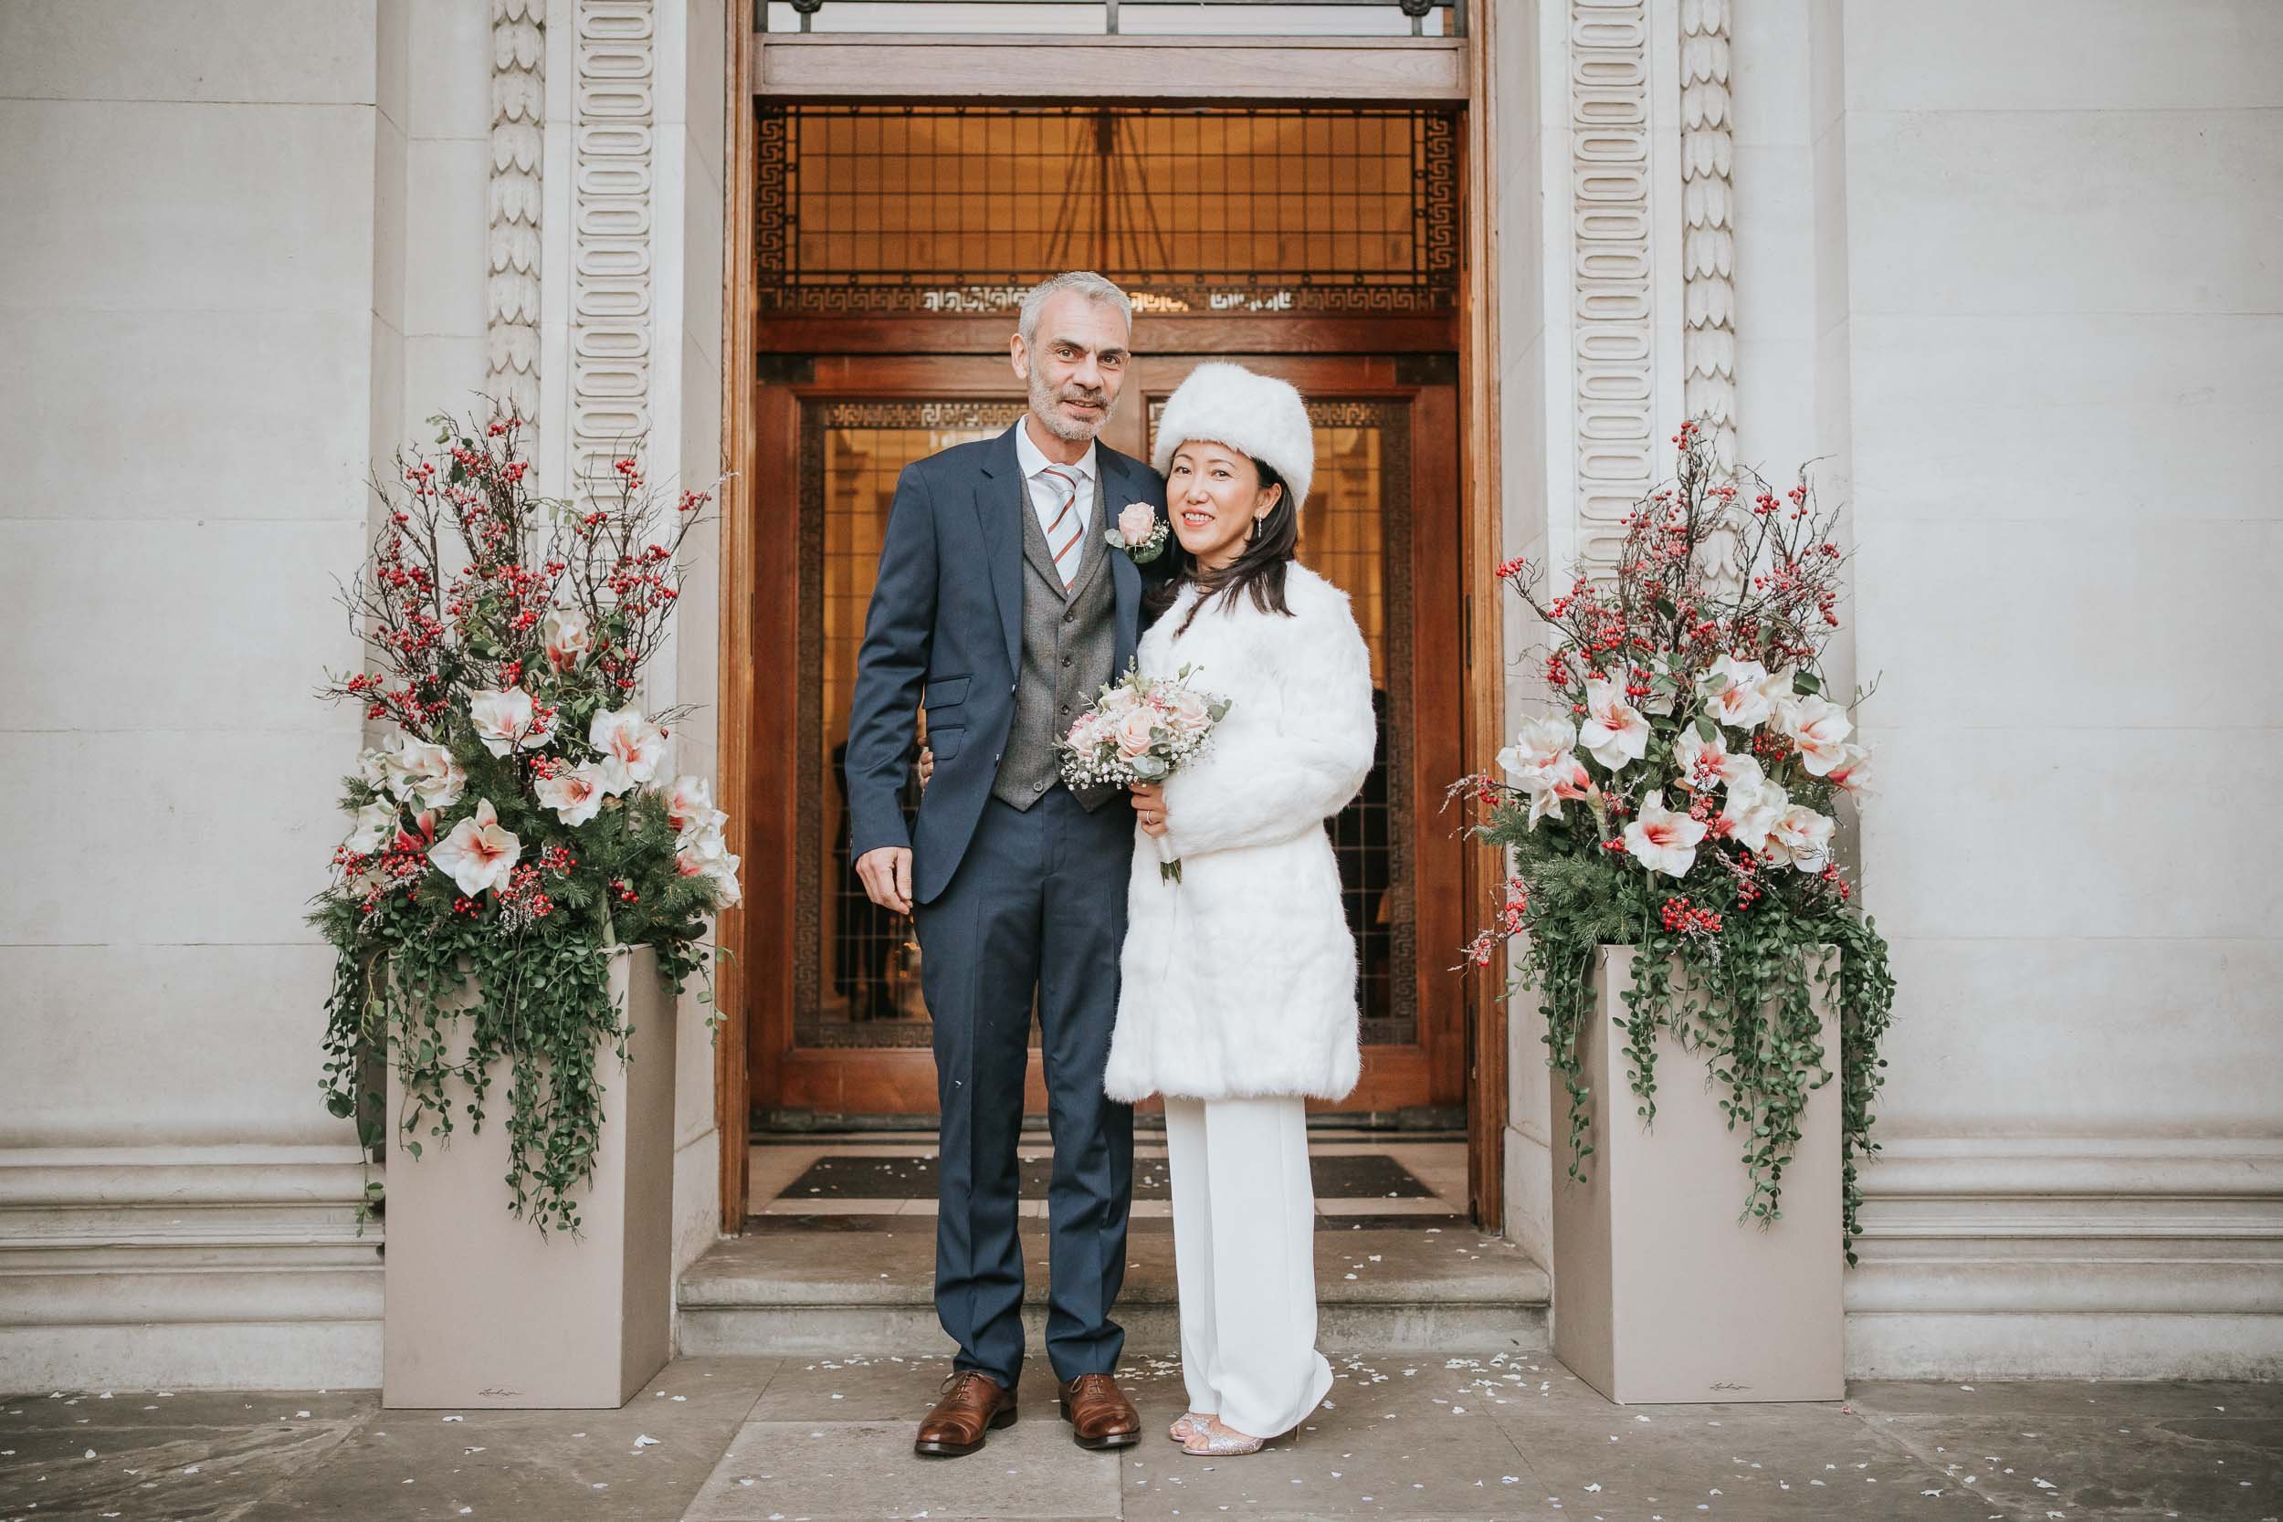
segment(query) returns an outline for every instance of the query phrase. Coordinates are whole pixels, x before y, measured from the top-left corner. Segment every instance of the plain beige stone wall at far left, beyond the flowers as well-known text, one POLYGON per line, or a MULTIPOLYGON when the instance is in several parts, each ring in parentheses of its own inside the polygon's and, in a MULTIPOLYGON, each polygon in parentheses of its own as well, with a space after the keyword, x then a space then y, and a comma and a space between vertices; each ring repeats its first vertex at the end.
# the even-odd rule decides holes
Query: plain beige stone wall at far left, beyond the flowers
POLYGON ((329 577, 400 365, 379 48, 372 5, 0 9, 11 1387, 377 1371, 301 915, 358 739, 310 701, 358 662, 329 577))

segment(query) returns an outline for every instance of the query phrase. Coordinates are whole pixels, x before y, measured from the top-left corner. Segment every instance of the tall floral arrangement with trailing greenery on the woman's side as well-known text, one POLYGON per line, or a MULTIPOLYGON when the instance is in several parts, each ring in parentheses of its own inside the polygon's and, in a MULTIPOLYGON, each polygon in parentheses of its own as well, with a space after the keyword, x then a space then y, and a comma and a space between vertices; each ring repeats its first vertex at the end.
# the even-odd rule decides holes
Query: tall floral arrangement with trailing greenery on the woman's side
POLYGON ((1452 787, 1514 865, 1466 956, 1489 965, 1523 936, 1518 981, 1539 990, 1548 1061, 1568 1091, 1568 1173, 1584 1177, 1578 1034, 1594 952, 1639 947, 1621 1022, 1639 1114, 1655 1118, 1655 1034, 1669 1029, 1726 1088, 1728 1127, 1744 1134, 1744 1216, 1765 1223, 1781 1216, 1799 1114, 1831 1082, 1810 981, 1826 977, 1820 949, 1838 945, 1852 1248, 1895 983, 1831 847, 1838 801, 1861 794, 1870 762, 1849 717, 1870 694, 1836 703, 1820 673, 1847 554, 1806 468, 1778 495, 1749 470, 1726 477, 1705 424, 1685 422, 1673 443, 1678 477, 1625 518, 1614 577, 1578 575, 1543 600, 1525 561, 1498 568, 1555 634, 1552 712, 1498 753, 1502 776, 1452 787))

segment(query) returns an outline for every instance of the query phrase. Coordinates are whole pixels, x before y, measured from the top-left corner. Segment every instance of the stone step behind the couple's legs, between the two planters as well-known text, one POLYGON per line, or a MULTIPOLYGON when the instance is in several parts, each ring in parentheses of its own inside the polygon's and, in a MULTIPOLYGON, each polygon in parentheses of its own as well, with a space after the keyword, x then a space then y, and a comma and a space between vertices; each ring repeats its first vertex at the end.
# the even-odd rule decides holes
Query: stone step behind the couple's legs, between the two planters
MULTIPOLYGON (((1137 1221, 1116 1319, 1128 1346, 1180 1346, 1173 1234, 1137 1221)), ((1046 1223, 1023 1221, 1023 1319, 1046 1346, 1046 1223)), ((1475 1228, 1329 1228, 1315 1237, 1317 1342, 1333 1349, 1546 1351, 1546 1271, 1475 1228)), ((683 1273, 683 1355, 950 1353, 936 1323, 931 1216, 760 1216, 683 1273)))

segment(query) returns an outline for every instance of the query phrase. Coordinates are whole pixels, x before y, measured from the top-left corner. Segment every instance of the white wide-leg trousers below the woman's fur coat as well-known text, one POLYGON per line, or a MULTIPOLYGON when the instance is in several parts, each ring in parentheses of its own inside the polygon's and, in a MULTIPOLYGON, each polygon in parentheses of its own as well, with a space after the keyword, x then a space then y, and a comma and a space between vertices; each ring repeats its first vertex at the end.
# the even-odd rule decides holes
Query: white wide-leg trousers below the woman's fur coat
POLYGON ((1306 1100, 1164 1102, 1189 1410, 1278 1438, 1331 1392, 1315 1351, 1306 1100))

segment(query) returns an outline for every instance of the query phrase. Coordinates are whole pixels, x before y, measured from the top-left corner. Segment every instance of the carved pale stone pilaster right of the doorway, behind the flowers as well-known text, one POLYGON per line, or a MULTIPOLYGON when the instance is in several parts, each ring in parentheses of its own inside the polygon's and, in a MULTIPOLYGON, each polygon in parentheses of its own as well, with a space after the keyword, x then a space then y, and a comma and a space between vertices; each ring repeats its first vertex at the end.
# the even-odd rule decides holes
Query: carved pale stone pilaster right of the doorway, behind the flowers
MULTIPOLYGON (((1500 342, 1507 554, 1614 566, 1619 520, 1671 470, 1683 418, 1680 0, 1541 0, 1500 16, 1500 342)), ((1689 14, 1699 16, 1699 0, 1689 14)), ((1511 593, 1507 714, 1546 691, 1511 593)), ((1507 1020, 1507 1232, 1550 1260, 1562 1120, 1536 997, 1507 1020)))

